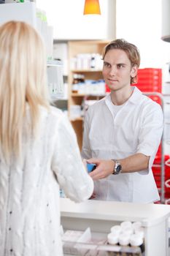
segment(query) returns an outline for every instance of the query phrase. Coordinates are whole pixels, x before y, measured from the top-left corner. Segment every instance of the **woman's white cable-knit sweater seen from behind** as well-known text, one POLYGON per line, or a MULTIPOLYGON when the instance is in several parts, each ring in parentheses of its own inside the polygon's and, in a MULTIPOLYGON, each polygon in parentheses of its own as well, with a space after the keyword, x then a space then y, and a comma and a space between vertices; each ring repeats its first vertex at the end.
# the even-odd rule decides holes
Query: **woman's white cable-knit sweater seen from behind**
POLYGON ((41 108, 39 135, 23 132, 22 153, 20 163, 0 159, 0 256, 61 256, 59 185, 74 201, 93 192, 61 110, 41 108))

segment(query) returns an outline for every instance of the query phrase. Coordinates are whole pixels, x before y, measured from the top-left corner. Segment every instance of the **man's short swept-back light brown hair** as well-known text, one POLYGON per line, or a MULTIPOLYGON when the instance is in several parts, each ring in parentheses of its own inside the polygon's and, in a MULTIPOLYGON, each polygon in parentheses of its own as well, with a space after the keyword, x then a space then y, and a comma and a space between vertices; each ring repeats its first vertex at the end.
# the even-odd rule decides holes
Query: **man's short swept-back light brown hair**
MULTIPOLYGON (((102 53, 103 59, 107 52, 112 49, 124 50, 128 56, 128 59, 131 61, 131 67, 140 66, 140 53, 138 48, 130 42, 125 41, 124 39, 116 39, 109 42, 105 47, 102 53)), ((131 78, 131 83, 137 82, 137 75, 134 78, 131 78)))

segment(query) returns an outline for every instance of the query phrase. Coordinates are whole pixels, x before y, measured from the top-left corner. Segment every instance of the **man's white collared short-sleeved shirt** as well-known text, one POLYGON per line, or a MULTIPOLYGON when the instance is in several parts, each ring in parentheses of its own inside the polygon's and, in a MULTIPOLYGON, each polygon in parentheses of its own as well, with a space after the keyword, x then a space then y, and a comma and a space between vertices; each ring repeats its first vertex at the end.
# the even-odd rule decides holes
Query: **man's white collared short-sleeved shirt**
POLYGON ((110 94, 88 108, 83 158, 123 159, 136 153, 150 156, 148 170, 110 175, 95 181, 96 199, 139 203, 159 200, 151 167, 162 132, 161 106, 136 87, 116 116, 112 113, 110 94))

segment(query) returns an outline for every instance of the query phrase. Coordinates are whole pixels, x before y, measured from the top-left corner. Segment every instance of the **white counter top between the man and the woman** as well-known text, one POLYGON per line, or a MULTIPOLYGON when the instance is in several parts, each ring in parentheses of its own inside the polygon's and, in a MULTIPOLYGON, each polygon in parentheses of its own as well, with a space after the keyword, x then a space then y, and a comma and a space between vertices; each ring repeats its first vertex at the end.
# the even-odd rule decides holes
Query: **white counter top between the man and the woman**
POLYGON ((170 206, 154 203, 122 203, 101 200, 86 200, 74 203, 61 198, 61 217, 82 219, 103 219, 115 221, 141 221, 142 225, 152 226, 170 217, 170 206))

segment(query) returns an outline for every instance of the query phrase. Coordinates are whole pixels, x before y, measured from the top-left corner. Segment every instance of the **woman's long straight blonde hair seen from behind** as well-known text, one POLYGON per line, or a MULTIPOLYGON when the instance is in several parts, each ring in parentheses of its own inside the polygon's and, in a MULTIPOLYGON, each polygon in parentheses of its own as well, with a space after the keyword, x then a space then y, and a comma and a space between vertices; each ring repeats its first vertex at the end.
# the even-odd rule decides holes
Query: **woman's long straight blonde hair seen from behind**
POLYGON ((23 124, 29 106, 29 125, 35 135, 39 105, 49 108, 45 46, 27 23, 0 26, 0 157, 20 156, 23 124))

